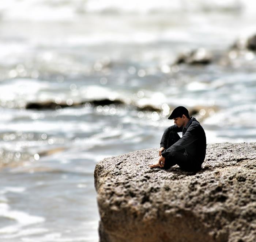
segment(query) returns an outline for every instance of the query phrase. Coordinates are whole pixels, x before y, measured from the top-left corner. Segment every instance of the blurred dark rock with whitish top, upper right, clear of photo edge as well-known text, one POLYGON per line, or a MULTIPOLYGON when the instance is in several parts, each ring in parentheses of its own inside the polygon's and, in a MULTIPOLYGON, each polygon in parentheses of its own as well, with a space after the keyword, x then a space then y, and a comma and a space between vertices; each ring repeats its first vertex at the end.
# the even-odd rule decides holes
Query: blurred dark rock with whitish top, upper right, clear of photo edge
POLYGON ((205 48, 181 53, 174 64, 186 63, 189 65, 207 65, 212 62, 212 54, 205 48))

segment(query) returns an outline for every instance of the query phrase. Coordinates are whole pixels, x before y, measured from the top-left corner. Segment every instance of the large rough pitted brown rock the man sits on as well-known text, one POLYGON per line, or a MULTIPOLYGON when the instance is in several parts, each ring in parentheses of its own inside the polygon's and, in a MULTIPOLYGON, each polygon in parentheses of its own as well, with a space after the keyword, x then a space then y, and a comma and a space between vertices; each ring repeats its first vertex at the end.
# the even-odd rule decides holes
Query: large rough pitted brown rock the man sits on
POLYGON ((97 163, 101 242, 256 241, 256 143, 207 145, 197 173, 157 160, 145 149, 97 163))

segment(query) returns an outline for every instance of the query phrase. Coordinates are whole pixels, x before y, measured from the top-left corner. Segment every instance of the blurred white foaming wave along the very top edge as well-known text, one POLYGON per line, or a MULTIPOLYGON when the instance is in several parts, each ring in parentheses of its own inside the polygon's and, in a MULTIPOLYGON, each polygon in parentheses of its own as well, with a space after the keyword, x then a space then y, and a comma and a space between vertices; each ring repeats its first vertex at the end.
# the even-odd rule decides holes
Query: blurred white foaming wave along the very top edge
POLYGON ((163 13, 189 13, 189 12, 241 12, 248 9, 254 1, 250 0, 154 0, 154 1, 104 1, 104 0, 38 0, 35 4, 30 0, 10 0, 1 4, 1 19, 33 20, 33 21, 73 21, 83 15, 89 14, 163 14, 163 13))

